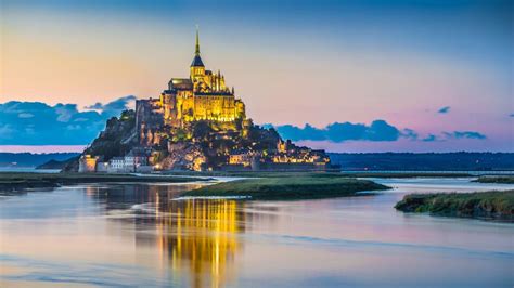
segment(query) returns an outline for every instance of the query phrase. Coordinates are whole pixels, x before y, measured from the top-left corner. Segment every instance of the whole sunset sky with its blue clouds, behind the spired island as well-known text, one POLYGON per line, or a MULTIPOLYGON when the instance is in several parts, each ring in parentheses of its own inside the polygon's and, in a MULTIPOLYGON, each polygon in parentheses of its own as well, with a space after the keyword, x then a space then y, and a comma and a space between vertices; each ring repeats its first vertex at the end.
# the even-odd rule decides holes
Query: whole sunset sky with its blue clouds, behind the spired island
POLYGON ((82 149, 188 77, 196 25, 254 122, 301 145, 514 152, 513 1, 0 3, 0 152, 82 149))

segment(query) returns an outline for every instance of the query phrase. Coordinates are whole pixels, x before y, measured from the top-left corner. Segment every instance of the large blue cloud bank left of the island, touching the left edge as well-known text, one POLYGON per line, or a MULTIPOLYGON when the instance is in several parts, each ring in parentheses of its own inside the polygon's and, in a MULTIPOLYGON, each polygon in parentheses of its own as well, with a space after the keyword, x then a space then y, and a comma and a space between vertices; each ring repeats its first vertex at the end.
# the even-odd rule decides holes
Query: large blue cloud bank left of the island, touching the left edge
MULTIPOLYGON (((79 112, 76 104, 11 101, 0 104, 0 145, 85 145, 118 116, 134 96, 79 112)), ((91 106, 90 106, 91 107, 91 106)))

